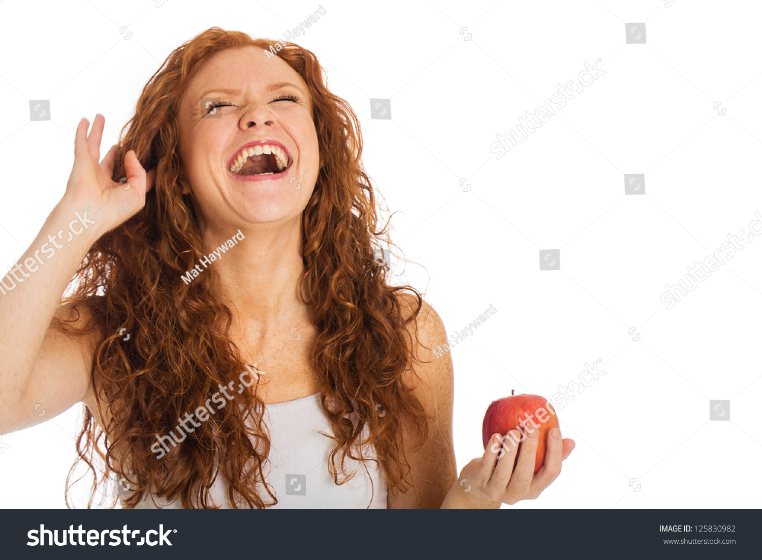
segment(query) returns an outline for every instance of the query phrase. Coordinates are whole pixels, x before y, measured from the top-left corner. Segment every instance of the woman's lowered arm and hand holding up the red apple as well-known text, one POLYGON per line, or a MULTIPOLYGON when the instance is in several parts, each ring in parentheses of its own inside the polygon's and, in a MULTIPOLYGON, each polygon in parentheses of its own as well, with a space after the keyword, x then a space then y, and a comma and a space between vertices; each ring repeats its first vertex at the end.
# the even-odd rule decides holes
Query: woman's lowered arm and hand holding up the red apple
MULTIPOLYGON (((406 298, 409 305, 414 301, 415 298, 406 298)), ((411 336, 415 343, 415 333, 411 332, 411 336)), ((557 439, 549 433, 545 465, 535 475, 537 439, 527 438, 523 446, 514 445, 520 437, 514 430, 514 439, 504 438, 502 444, 500 439, 493 440, 482 458, 469 462, 458 477, 453 449, 453 362, 450 352, 437 352, 438 358, 434 355, 435 349, 447 343, 447 333, 437 312, 425 301, 418 316, 418 338, 431 351, 419 346, 417 355, 431 362, 414 366, 420 380, 408 374, 406 381, 429 414, 430 437, 421 449, 411 447, 416 438, 407 427, 402 438, 412 484, 421 493, 423 503, 411 490, 392 496, 389 488, 387 507, 486 510, 538 497, 558 477, 561 462, 574 449, 574 440, 561 439, 560 430, 557 439)))

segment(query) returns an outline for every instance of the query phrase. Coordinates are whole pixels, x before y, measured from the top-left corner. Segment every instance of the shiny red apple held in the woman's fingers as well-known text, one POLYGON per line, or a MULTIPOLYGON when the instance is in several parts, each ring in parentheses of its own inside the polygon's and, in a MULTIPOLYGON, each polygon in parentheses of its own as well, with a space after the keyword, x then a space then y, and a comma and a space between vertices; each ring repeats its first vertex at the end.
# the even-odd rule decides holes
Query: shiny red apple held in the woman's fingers
MULTIPOLYGON (((514 391, 511 391, 511 397, 498 398, 487 407, 484 423, 482 423, 484 449, 487 449, 492 434, 499 433, 505 436, 511 430, 518 430, 521 434, 520 439, 523 441, 529 431, 539 430, 537 455, 534 462, 534 471, 537 472, 545 463, 548 432, 558 427, 559 419, 547 399, 538 394, 514 395, 514 391)), ((504 443, 504 446, 507 449, 507 443, 504 443)), ((518 459, 517 453, 514 468, 518 459)))

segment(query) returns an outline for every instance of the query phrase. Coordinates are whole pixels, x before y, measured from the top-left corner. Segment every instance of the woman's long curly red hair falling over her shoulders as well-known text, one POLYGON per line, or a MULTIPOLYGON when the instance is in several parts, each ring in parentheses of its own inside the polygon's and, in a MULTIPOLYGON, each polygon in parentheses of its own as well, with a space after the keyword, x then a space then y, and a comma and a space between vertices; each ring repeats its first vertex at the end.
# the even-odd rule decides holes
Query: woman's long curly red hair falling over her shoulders
MULTIPOLYGON (((126 478, 133 490, 126 508, 135 507, 144 493, 170 501, 180 497, 183 508, 219 507, 210 504, 210 487, 220 474, 229 483, 232 507, 277 504, 262 475, 270 439, 262 427, 264 402, 256 384, 234 393, 236 406, 218 410, 162 459, 152 451, 157 435, 171 433, 182 414, 202 407, 220 385, 237 382, 246 370, 229 337, 232 313, 219 297, 214 269, 189 284, 181 281, 204 253, 197 203, 192 191, 183 194, 184 185, 190 185, 181 169, 176 110, 204 61, 220 50, 249 46, 280 56, 302 76, 312 98, 322 166, 302 215, 305 270, 298 292, 304 288, 318 333, 311 365, 321 375, 320 403, 334 434, 328 469, 336 484, 352 478, 340 482, 338 470, 331 468, 341 452, 342 471, 348 454, 363 465, 379 463, 390 491, 411 486, 405 481, 410 465, 401 445, 402 426, 409 421, 421 436, 420 445, 428 426, 426 411, 403 374, 418 361, 407 324, 414 323, 418 340, 415 318, 423 299, 409 285, 389 286, 388 269, 376 258, 376 242, 386 227, 376 231, 376 200, 360 163, 357 116, 347 101, 328 91, 325 71, 309 50, 211 27, 175 49, 143 88, 135 114, 120 132, 112 179, 126 175, 124 155, 135 150, 144 169, 156 168, 155 188, 146 194, 144 208, 91 246, 61 301, 87 311, 56 325, 93 336, 91 387, 101 418, 101 402, 110 413, 104 433, 84 407, 78 457, 66 479, 67 507, 72 507, 72 472, 81 460, 93 475, 88 508, 97 488, 104 484, 105 489, 114 475, 126 478), (402 296, 411 301, 409 307, 402 305, 402 296), (129 344, 121 342, 122 329, 131 334, 129 344), (379 414, 379 405, 392 414, 379 414), (356 421, 347 416, 352 413, 356 421), (255 420, 251 427, 245 422, 249 415, 255 420), (365 426, 369 436, 359 445, 372 443, 378 459, 358 457, 352 450, 365 426), (252 445, 252 439, 262 447, 252 445), (100 478, 94 453, 105 465, 100 478), (259 482, 273 501, 259 495, 259 482)), ((114 495, 110 507, 116 503, 114 495)))

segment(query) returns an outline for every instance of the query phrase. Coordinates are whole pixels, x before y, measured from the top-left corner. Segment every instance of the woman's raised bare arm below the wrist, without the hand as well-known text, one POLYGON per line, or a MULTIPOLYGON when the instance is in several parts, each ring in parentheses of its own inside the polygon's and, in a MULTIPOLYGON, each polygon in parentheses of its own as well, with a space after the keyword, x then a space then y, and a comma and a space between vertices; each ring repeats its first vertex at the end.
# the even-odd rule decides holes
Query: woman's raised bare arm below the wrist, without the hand
MULTIPOLYGON (((86 208, 78 210, 86 211, 86 208)), ((72 306, 59 307, 67 285, 64 278, 72 278, 93 242, 86 230, 66 241, 69 222, 74 218, 74 208, 66 208, 64 204, 56 206, 37 238, 19 259, 27 266, 16 266, 3 278, 5 294, 0 291, 0 356, 3 356, 0 366, 0 433, 50 420, 82 401, 88 392, 90 362, 82 344, 85 341, 72 338, 51 325, 54 314, 61 319, 69 317, 72 306), (60 230, 65 232, 62 240, 57 237, 60 230), (49 234, 62 248, 53 246, 49 234), (54 251, 52 256, 51 250, 54 251)), ((74 230, 84 230, 78 223, 73 227, 74 230)))

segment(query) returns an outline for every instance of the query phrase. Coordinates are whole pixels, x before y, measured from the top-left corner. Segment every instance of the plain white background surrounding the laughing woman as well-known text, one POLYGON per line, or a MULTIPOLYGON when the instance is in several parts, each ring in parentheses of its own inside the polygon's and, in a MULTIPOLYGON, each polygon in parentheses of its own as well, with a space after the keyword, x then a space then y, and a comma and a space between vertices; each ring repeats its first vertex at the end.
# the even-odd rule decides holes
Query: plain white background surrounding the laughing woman
MULTIPOLYGON (((762 211, 759 3, 321 3, 296 42, 356 111, 363 163, 400 211, 398 283, 450 335, 497 310, 452 349, 458 471, 483 453, 491 401, 550 397, 601 359, 607 374, 559 410, 577 443, 562 474, 510 508, 758 507, 762 242, 674 308, 660 297, 762 211), (647 43, 626 43, 629 22, 647 43), (496 134, 599 58, 604 76, 495 159, 496 134), (370 98, 391 99, 392 120, 370 98), (645 173, 645 195, 625 195, 625 173, 645 173), (539 269, 541 249, 560 270, 539 269), (730 421, 709 420, 712 399, 730 421)), ((318 4, 0 3, 2 271, 62 196, 80 118, 106 117, 102 156, 171 50, 212 26, 283 40, 318 4), (30 122, 38 99, 50 121, 30 122)), ((82 406, 3 436, 0 507, 65 507, 82 406)))

